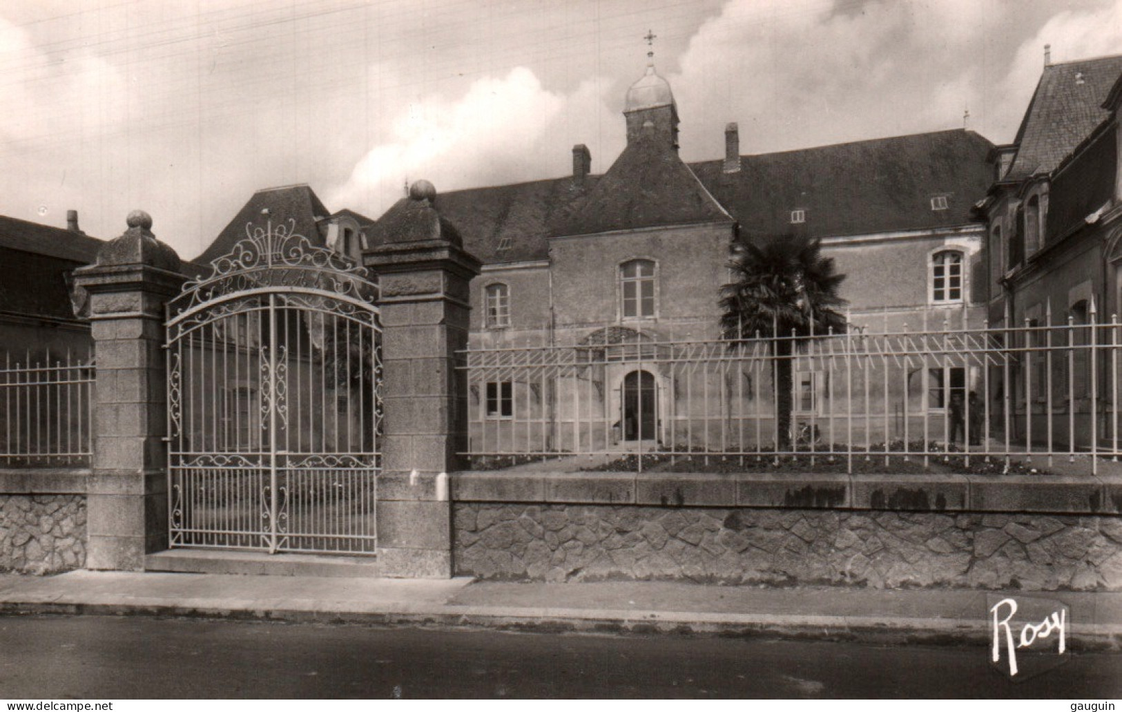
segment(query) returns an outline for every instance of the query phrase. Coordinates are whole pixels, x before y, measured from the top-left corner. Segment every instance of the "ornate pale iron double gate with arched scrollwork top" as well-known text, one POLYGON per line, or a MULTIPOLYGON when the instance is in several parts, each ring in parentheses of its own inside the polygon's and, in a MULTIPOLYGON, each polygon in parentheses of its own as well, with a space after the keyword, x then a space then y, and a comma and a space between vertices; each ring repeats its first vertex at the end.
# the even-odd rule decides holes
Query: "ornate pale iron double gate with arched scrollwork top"
POLYGON ((173 547, 374 554, 377 286, 293 221, 168 304, 173 547))

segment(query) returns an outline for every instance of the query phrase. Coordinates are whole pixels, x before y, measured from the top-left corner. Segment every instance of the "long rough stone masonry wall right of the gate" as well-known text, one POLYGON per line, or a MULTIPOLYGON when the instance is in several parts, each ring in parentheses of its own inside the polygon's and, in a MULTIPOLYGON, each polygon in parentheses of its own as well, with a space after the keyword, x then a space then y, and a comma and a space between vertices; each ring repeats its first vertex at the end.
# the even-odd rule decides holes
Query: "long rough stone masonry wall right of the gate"
POLYGON ((1122 590, 1122 519, 458 502, 458 575, 1122 590))

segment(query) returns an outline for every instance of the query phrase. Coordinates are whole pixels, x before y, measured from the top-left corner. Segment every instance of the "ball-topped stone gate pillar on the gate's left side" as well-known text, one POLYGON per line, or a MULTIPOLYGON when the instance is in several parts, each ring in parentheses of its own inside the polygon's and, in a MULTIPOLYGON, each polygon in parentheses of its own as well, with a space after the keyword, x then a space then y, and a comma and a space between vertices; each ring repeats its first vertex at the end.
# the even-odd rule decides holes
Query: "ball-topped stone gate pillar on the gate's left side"
POLYGON ((90 294, 96 359, 88 568, 141 570, 145 554, 167 548, 164 304, 186 277, 150 228, 132 211, 125 234, 74 273, 90 294))

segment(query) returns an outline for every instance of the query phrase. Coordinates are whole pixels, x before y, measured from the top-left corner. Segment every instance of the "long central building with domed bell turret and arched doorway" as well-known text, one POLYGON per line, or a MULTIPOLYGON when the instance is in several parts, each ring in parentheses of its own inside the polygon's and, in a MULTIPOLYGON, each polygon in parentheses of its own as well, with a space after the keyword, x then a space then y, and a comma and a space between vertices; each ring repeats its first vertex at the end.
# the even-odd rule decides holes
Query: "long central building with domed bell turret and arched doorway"
MULTIPOLYGON (((689 343, 691 353, 716 353, 703 345, 720 338, 719 290, 729 281, 729 247, 741 237, 820 238, 847 275, 842 294, 852 330, 982 327, 985 230, 972 208, 995 166, 994 146, 977 134, 742 155, 738 127, 729 124, 724 157, 687 163, 679 156, 677 102, 653 65, 628 90, 623 113, 627 144, 603 175, 590 173, 589 152, 577 145, 569 176, 432 200, 484 264, 470 294, 473 349, 599 347, 574 356, 591 358, 595 368, 531 375, 512 365, 472 382, 473 451, 627 441, 712 449, 717 441, 727 446, 732 431, 743 445, 744 431, 757 429, 752 437, 773 439, 774 421, 758 422, 774 411, 767 373, 687 372, 663 353, 671 347, 660 346, 689 343), (652 363, 636 367, 636 357, 652 363)), ((392 239, 408 202, 366 230, 368 244, 392 239)), ((893 435, 880 437, 904 437, 908 421, 918 432, 925 414, 944 413, 954 391, 965 395, 980 382, 976 365, 917 362, 907 378, 884 385, 876 421, 891 411, 893 435)), ((842 407, 838 383, 813 358, 797 364, 793 387, 802 421, 842 407)))

